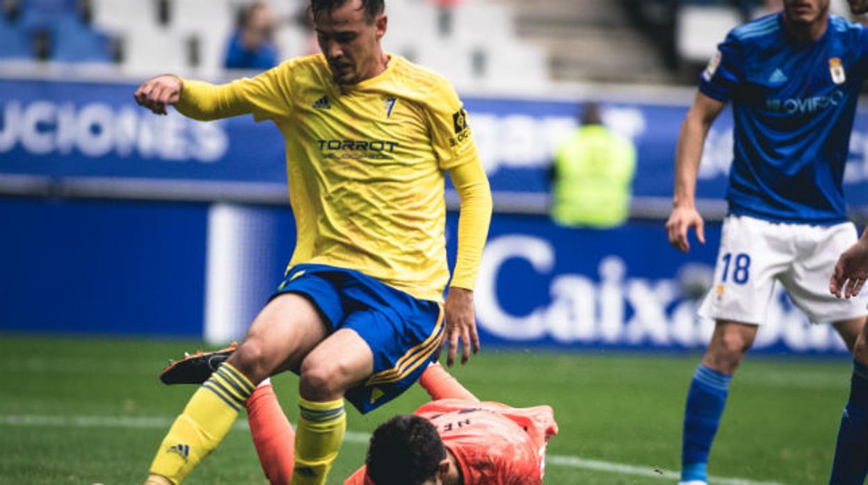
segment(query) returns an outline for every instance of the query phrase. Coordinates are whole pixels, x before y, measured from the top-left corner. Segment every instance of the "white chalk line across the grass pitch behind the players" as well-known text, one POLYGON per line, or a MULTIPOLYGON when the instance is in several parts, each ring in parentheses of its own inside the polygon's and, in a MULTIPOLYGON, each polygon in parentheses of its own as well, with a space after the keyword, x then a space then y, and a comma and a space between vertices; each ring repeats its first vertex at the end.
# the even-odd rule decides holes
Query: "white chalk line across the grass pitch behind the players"
MULTIPOLYGON (((37 416, 37 415, 0 415, 0 426, 20 427, 57 427, 57 428, 125 428, 125 429, 167 429, 172 420, 166 417, 148 416, 37 416)), ((233 429, 249 429, 247 422, 239 421, 233 429)), ((366 443, 371 439, 369 433, 347 431, 344 437, 347 442, 366 443)), ((564 467, 572 469, 588 469, 609 472, 619 475, 643 476, 677 480, 678 472, 664 469, 651 469, 623 463, 590 460, 579 456, 547 455, 546 464, 549 467, 564 467)), ((757 482, 743 478, 709 477, 710 482, 720 485, 783 485, 779 482, 757 482)))

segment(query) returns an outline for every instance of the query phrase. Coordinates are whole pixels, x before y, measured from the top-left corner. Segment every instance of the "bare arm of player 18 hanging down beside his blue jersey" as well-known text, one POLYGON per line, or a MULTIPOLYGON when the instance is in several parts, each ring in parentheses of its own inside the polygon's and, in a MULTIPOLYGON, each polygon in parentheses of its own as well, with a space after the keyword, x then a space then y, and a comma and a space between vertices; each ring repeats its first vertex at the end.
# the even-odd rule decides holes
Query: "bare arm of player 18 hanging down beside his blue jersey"
POLYGON ((673 209, 666 221, 666 233, 669 244, 682 252, 690 251, 687 233, 691 227, 696 231, 696 239, 705 244, 705 223, 695 205, 696 175, 699 174, 708 129, 724 106, 724 103, 698 92, 681 123, 675 150, 673 209))

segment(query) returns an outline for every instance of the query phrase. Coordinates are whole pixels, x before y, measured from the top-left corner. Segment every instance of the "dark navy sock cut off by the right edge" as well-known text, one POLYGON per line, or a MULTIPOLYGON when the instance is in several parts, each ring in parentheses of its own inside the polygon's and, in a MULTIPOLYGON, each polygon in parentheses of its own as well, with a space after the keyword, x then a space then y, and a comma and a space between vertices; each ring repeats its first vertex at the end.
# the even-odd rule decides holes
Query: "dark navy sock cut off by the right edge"
POLYGON ((868 473, 868 365, 853 361, 850 400, 841 416, 831 485, 862 485, 868 473))

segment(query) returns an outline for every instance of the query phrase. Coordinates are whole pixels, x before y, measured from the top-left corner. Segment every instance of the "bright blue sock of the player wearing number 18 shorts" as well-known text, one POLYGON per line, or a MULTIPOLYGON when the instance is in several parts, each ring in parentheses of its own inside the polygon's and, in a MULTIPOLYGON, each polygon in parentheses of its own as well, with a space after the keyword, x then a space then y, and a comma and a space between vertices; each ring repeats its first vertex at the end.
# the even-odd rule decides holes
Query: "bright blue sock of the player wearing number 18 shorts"
POLYGON ((707 482, 706 464, 720 416, 727 405, 729 381, 721 374, 700 364, 687 391, 684 411, 684 437, 681 443, 681 482, 707 482))

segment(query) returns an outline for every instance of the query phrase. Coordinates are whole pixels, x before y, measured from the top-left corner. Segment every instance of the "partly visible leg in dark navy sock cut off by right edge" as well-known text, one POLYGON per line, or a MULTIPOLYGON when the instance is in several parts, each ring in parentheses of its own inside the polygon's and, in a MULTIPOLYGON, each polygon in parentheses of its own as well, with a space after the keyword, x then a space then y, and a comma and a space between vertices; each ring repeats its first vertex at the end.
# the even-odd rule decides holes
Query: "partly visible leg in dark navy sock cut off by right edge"
POLYGON ((861 485, 868 474, 868 325, 854 318, 836 322, 835 329, 853 353, 853 373, 829 483, 861 485))

